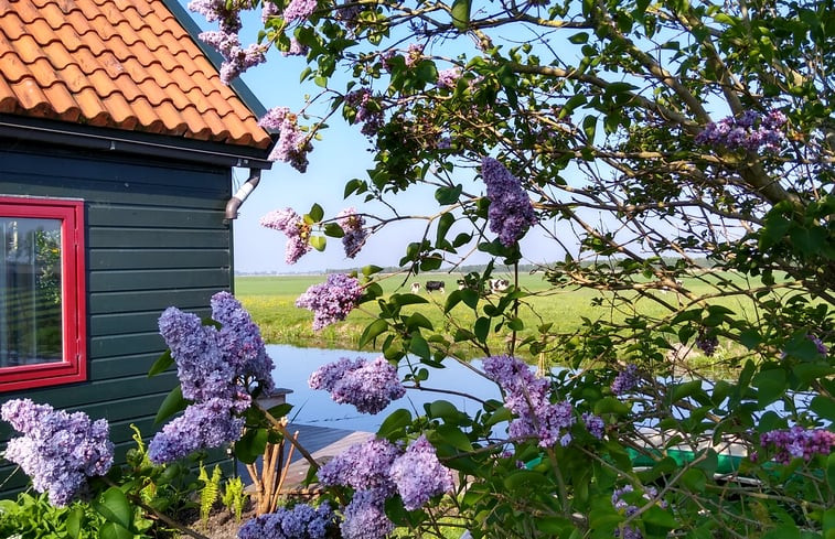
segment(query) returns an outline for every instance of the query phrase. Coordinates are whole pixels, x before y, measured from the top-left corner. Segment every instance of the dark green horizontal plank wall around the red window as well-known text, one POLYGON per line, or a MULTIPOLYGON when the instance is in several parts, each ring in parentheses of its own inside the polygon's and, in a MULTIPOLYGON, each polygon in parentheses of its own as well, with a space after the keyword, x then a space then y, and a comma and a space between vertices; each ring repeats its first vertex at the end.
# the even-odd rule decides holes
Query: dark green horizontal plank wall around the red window
MULTIPOLYGON (((232 287, 232 231, 223 223, 231 170, 118 154, 61 151, 0 139, 0 194, 82 198, 87 242, 86 382, 0 394, 106 418, 117 456, 132 446, 130 423, 150 435, 176 384, 147 373, 165 348, 157 327, 169 305, 210 314, 212 294, 232 287)), ((13 435, 0 427, 0 444, 13 435)), ((0 483, 13 467, 0 463, 0 483)), ((18 473, 0 497, 21 488, 18 473)))

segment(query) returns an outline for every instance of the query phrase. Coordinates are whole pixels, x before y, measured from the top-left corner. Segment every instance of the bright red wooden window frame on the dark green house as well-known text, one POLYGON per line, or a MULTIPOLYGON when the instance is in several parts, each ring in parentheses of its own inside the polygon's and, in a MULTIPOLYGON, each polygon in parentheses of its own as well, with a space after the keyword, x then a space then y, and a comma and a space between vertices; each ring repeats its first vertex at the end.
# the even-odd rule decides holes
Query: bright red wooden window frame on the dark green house
POLYGON ((0 196, 1 217, 61 220, 63 360, 0 367, 0 391, 87 379, 87 294, 84 201, 0 196))

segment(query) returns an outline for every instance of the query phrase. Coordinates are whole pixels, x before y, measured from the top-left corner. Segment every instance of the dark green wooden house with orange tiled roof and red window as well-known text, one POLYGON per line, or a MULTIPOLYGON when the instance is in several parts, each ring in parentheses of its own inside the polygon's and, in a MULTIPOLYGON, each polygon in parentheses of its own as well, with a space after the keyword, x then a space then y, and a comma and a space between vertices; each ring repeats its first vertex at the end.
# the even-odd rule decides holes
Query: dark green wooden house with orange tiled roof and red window
POLYGON ((106 418, 122 456, 176 384, 159 314, 233 285, 233 169, 270 166, 195 35, 176 0, 0 0, 0 402, 106 418))

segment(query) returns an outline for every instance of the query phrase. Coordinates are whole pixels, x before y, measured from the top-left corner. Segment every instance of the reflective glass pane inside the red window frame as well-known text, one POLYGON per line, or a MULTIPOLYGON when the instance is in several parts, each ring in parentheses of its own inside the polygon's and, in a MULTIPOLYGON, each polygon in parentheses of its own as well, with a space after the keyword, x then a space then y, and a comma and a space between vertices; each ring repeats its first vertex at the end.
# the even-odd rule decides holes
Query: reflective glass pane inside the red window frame
POLYGON ((61 220, 0 217, 0 367, 61 362, 61 220))

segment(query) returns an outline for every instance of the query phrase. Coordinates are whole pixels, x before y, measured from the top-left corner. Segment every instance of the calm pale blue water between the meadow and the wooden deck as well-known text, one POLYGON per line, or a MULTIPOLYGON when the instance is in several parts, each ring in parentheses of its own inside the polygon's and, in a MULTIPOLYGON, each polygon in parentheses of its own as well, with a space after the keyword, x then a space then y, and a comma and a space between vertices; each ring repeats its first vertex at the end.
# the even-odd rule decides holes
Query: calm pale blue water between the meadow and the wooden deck
MULTIPOLYGON (((422 405, 425 402, 442 399, 452 402, 459 410, 469 414, 473 414, 481 409, 481 405, 478 401, 457 395, 407 389, 404 398, 392 402, 388 408, 376 416, 360 413, 351 405, 338 405, 333 402, 328 391, 314 391, 310 389, 308 387, 308 377, 321 365, 335 362, 340 357, 373 359, 376 357, 376 353, 297 348, 287 345, 268 345, 267 353, 276 364, 276 369, 274 370, 276 386, 289 388, 293 391, 288 395, 287 401, 293 405, 290 419, 298 423, 376 432, 383 420, 398 408, 406 408, 415 416, 415 409, 422 413, 422 405)), ((482 399, 499 398, 499 388, 495 384, 453 360, 448 360, 447 363, 449 365, 445 369, 427 367, 429 369, 429 379, 422 382, 422 385, 433 389, 449 389, 471 394, 482 399)), ((479 364, 474 362, 473 365, 479 364)), ((402 374, 405 374, 405 371, 402 374)), ((407 384, 407 386, 411 384, 407 384)))

